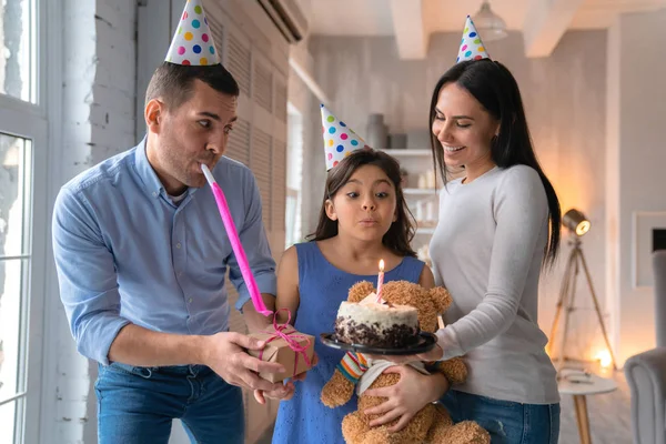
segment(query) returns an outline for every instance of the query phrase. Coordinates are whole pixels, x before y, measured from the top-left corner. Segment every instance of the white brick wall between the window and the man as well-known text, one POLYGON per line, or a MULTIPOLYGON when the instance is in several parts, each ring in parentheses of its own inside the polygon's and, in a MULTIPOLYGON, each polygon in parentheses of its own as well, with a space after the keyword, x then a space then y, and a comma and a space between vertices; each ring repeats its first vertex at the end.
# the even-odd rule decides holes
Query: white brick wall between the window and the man
MULTIPOLYGON (((62 182, 135 143, 135 0, 62 0, 62 182)), ((56 167, 54 167, 56 168, 56 167)), ((79 355, 61 304, 51 314, 56 416, 42 442, 95 443, 97 364, 79 355)))

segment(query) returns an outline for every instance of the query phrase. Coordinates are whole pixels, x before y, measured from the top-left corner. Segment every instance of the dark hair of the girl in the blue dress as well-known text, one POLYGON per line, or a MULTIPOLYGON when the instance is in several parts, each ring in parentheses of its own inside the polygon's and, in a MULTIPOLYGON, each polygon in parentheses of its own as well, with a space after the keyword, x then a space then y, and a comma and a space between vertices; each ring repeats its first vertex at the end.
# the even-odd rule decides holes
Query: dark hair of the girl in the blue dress
POLYGON ((335 193, 344 186, 354 171, 363 165, 375 165, 382 169, 395 186, 395 202, 397 219, 391 224, 391 228, 382 238, 382 243, 392 252, 400 256, 416 256, 416 253, 410 246, 414 238, 414 216, 407 209, 405 196, 402 191, 400 164, 391 155, 383 151, 373 149, 363 149, 354 151, 343 159, 336 167, 329 171, 320 219, 314 233, 307 238, 311 241, 323 241, 337 235, 337 221, 332 221, 326 215, 326 200, 333 199, 335 193))

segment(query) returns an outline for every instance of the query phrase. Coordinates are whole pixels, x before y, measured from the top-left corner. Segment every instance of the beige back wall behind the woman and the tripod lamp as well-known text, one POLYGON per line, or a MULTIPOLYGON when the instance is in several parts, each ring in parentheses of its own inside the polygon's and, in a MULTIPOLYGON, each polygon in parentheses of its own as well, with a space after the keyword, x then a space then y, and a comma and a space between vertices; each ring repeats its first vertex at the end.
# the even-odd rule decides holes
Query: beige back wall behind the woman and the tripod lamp
MULTIPOLYGON (((518 81, 538 158, 563 210, 576 206, 592 220, 584 249, 604 304, 606 32, 567 32, 547 59, 526 59, 519 33, 486 43, 491 57, 506 64, 518 81)), ((432 89, 454 63, 458 44, 457 33, 433 34, 426 60, 404 61, 393 38, 313 37, 310 52, 315 80, 330 97, 331 110, 364 137, 373 112, 384 113, 390 132, 425 130, 432 89)), ((311 113, 319 118, 319 108, 312 107, 311 113)), ((309 203, 303 202, 304 232, 316 224, 325 179, 320 125, 313 124, 312 159, 304 169, 312 190, 309 203)), ((546 332, 568 251, 564 240, 558 264, 542 282, 539 324, 546 332)), ((591 357, 603 343, 596 323, 591 322, 593 304, 583 280, 578 289, 583 307, 572 319, 567 355, 591 357)))

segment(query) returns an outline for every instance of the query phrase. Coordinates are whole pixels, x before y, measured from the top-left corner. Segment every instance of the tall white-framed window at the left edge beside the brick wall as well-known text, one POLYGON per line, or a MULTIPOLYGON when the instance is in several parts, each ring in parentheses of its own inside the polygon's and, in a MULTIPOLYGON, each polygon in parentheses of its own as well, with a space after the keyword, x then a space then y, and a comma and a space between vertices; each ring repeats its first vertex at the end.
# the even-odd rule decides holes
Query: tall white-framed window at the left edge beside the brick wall
POLYGON ((2 444, 36 443, 40 430, 49 152, 47 51, 38 44, 48 39, 46 23, 39 27, 38 17, 47 17, 43 12, 51 1, 0 0, 2 444), (28 426, 29 421, 37 426, 28 426))

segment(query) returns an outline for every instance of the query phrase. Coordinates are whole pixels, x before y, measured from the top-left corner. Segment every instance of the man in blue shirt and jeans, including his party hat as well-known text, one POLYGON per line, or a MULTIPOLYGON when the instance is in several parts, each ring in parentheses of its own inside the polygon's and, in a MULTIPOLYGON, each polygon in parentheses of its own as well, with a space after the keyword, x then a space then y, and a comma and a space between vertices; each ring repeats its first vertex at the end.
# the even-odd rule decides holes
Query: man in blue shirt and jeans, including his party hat
POLYGON ((260 379, 258 372, 284 369, 245 352, 260 350, 259 341, 228 332, 228 269, 249 329, 270 320, 250 302, 202 164, 226 193, 270 310, 275 264, 254 176, 222 157, 238 119, 239 87, 219 63, 195 0, 185 6, 168 60, 148 87, 145 139, 74 178, 58 195, 60 293, 79 352, 100 363, 101 444, 167 443, 174 417, 193 442, 242 443, 240 386, 262 401, 261 393, 290 397, 293 383, 260 379), (202 51, 210 59, 184 59, 202 51))

